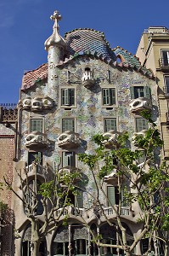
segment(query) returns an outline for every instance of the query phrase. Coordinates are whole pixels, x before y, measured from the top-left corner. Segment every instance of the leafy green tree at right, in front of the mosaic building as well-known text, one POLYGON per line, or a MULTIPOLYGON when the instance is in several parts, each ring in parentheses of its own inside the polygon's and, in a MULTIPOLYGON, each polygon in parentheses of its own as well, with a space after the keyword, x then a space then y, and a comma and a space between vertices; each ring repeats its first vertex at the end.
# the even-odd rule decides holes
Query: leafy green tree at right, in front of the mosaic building
POLYGON ((119 244, 106 244, 100 236, 93 236, 93 239, 98 247, 115 247, 121 249, 125 255, 131 256, 138 242, 147 237, 149 249, 144 255, 150 255, 150 252, 154 251, 154 255, 159 256, 158 242, 162 241, 165 256, 168 256, 168 166, 166 161, 160 163, 159 154, 163 144, 160 132, 149 113, 142 113, 142 115, 149 120, 150 126, 144 135, 135 134, 132 141, 129 141, 127 133, 123 133, 117 140, 95 135, 93 142, 97 144, 97 147, 93 154, 79 155, 79 160, 87 165, 93 174, 97 189, 97 196, 94 200, 110 228, 117 232, 119 244), (129 146, 130 143, 132 147, 129 146), (113 205, 107 198, 112 211, 115 212, 115 224, 105 216, 103 202, 100 200, 100 193, 104 197, 107 196, 104 191, 106 179, 110 183, 116 182, 115 186, 118 190, 118 205, 113 205), (129 184, 129 187, 125 183, 129 184), (127 228, 121 216, 124 201, 128 206, 137 202, 141 212, 138 223, 142 225, 142 229, 139 236, 133 237, 132 243, 127 240, 127 228))

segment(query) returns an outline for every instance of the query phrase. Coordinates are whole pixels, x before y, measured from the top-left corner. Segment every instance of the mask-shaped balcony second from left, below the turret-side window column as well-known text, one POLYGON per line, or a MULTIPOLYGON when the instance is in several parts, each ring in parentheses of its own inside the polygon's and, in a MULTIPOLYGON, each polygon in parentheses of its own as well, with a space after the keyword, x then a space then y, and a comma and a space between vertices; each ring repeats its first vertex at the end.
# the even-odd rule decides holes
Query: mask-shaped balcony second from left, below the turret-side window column
POLYGON ((59 148, 78 148, 81 140, 79 134, 74 131, 65 131, 58 137, 59 148))

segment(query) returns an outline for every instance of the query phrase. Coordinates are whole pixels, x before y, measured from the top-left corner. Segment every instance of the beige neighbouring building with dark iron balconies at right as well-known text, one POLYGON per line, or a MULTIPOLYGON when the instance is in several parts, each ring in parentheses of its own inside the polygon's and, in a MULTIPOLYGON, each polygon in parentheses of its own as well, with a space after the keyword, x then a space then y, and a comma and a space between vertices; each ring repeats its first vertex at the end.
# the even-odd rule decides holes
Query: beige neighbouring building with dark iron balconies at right
POLYGON ((136 55, 144 67, 155 74, 164 140, 163 158, 169 159, 169 30, 164 26, 149 26, 140 42, 136 55))

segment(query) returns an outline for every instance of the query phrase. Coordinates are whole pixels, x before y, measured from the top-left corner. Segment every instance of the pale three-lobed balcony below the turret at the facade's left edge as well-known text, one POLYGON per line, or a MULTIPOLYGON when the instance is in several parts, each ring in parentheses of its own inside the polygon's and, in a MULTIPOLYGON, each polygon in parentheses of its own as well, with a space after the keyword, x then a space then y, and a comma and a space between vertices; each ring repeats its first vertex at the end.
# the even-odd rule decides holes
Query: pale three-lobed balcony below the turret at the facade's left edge
POLYGON ((31 97, 26 97, 24 100, 20 100, 18 106, 23 109, 31 110, 31 111, 42 111, 44 109, 51 109, 54 107, 53 100, 48 97, 37 96, 33 99, 31 97))

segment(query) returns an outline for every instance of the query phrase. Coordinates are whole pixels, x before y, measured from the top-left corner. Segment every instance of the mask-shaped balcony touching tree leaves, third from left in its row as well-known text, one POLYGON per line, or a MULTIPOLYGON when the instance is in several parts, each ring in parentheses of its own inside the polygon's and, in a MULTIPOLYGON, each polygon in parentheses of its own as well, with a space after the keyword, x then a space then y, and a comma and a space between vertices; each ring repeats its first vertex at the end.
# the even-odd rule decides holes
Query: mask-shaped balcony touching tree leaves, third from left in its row
POLYGON ((103 142, 104 147, 109 149, 116 148, 119 145, 117 142, 119 135, 121 135, 121 132, 115 130, 105 132, 103 134, 103 137, 105 138, 103 142))

